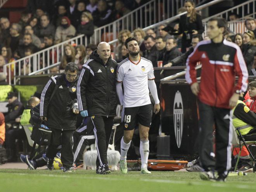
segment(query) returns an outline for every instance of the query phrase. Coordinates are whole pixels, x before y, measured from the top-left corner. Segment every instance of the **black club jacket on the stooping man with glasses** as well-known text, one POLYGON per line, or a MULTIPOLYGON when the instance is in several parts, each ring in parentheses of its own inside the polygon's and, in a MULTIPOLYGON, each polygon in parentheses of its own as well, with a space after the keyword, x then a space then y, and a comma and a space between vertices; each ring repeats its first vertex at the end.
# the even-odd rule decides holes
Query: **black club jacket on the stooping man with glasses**
POLYGON ((45 85, 40 100, 40 116, 47 117, 46 125, 49 128, 76 129, 76 114, 73 113, 73 104, 76 99, 77 81, 78 77, 70 83, 66 80, 65 74, 62 74, 50 78, 45 85), (56 92, 50 100, 55 88, 56 92))

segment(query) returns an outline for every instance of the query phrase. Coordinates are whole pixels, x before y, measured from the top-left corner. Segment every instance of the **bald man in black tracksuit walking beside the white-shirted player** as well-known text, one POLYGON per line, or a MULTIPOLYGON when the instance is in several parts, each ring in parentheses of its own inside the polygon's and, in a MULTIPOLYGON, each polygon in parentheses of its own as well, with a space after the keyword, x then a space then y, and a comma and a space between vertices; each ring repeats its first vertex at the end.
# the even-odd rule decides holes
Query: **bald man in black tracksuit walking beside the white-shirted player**
POLYGON ((95 134, 98 158, 96 173, 107 174, 107 147, 116 116, 116 67, 111 59, 110 45, 101 42, 83 65, 77 84, 78 107, 81 116, 89 116, 95 134))

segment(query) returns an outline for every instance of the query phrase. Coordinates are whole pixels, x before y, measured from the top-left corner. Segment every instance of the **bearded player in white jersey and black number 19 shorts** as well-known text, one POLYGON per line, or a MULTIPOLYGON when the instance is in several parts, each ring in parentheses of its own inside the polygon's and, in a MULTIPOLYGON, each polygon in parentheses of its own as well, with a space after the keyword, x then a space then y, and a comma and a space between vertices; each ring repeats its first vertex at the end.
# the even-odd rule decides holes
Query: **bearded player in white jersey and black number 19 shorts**
POLYGON ((120 170, 127 173, 126 154, 131 144, 135 126, 139 125, 140 131, 140 156, 141 173, 150 174, 147 170, 149 157, 149 127, 152 119, 152 107, 149 98, 149 90, 155 101, 154 112, 160 110, 157 96, 156 83, 154 81, 154 68, 152 62, 140 57, 140 47, 134 37, 125 41, 129 52, 129 58, 120 62, 117 67, 116 91, 120 100, 122 121, 124 122, 124 136, 121 139, 120 170), (124 94, 122 90, 124 87, 124 94))

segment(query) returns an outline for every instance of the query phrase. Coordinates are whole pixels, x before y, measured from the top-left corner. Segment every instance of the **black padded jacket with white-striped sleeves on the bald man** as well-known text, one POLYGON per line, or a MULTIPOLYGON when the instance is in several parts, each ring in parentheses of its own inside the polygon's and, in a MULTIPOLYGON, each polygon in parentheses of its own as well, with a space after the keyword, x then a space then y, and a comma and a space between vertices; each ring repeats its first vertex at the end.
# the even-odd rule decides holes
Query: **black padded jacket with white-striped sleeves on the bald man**
POLYGON ((116 116, 116 67, 111 56, 105 65, 97 50, 93 51, 78 80, 79 111, 88 110, 89 116, 116 116))

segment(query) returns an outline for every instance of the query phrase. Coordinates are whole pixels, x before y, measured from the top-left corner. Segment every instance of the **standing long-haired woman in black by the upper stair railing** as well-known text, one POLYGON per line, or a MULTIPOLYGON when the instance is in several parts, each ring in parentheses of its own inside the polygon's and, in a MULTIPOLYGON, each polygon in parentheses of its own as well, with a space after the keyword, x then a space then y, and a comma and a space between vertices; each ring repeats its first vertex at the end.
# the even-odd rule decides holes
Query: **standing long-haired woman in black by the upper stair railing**
POLYGON ((199 14, 195 12, 195 4, 192 0, 185 1, 185 8, 187 14, 180 16, 179 30, 182 36, 182 53, 186 52, 186 48, 190 47, 192 35, 202 34, 204 28, 202 26, 202 19, 199 14))

